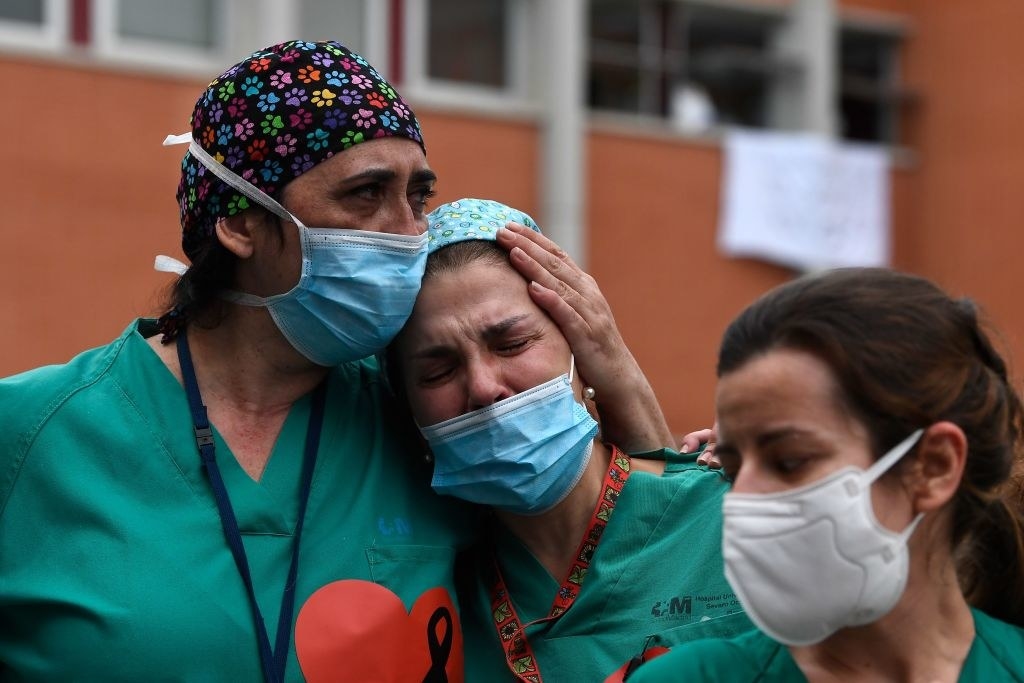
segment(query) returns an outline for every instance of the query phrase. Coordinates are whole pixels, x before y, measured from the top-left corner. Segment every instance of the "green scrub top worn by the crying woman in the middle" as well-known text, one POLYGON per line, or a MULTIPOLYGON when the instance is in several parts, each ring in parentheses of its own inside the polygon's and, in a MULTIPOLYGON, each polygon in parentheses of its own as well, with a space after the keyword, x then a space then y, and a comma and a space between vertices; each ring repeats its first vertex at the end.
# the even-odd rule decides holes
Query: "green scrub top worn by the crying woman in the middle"
MULTIPOLYGON (((666 450, 638 457, 666 460, 665 473, 630 475, 575 602, 554 623, 526 630, 546 683, 603 681, 645 643, 671 646, 753 628, 724 575, 721 497, 728 484, 719 472, 698 466, 696 454, 666 450)), ((520 618, 546 616, 562 577, 548 573, 497 521, 493 540, 520 618)), ((481 579, 489 557, 481 545, 463 564, 469 683, 516 680, 481 579)))

